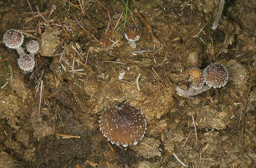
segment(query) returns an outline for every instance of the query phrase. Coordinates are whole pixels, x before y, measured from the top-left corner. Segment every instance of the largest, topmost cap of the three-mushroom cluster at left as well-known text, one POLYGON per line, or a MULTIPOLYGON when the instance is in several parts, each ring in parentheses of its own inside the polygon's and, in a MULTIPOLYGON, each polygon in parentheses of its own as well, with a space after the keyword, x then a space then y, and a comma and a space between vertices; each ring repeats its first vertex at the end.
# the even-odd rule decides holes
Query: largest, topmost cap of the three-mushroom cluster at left
POLYGON ((20 30, 10 29, 4 34, 3 42, 8 48, 16 49, 23 43, 24 36, 20 30))

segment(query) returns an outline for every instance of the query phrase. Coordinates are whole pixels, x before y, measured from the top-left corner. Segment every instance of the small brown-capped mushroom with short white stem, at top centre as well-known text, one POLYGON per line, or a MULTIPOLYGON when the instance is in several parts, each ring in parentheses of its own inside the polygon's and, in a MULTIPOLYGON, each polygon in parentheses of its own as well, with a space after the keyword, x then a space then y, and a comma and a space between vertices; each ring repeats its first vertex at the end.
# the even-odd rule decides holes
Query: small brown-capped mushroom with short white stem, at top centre
POLYGON ((139 32, 139 29, 135 26, 128 26, 125 31, 125 38, 128 40, 128 44, 131 45, 133 49, 136 48, 135 41, 139 40, 141 37, 141 34, 139 32))

